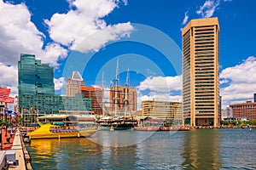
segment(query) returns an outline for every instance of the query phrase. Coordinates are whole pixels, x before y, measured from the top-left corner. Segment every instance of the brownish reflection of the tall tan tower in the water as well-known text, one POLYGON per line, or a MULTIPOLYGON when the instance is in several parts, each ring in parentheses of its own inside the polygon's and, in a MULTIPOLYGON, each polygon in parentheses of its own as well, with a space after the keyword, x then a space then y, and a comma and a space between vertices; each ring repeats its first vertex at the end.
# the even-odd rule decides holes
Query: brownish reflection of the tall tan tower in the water
POLYGON ((184 169, 219 169, 218 129, 197 129, 186 133, 183 142, 184 169))

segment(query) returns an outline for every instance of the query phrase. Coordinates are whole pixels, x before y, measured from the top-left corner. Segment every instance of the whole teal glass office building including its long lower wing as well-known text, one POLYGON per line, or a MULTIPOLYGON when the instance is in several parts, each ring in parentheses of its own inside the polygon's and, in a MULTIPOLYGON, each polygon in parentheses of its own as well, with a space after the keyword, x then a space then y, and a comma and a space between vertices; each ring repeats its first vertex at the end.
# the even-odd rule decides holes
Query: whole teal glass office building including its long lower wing
POLYGON ((59 111, 91 111, 91 99, 83 94, 56 95, 53 68, 35 59, 35 55, 20 54, 18 67, 19 111, 24 118, 59 111))

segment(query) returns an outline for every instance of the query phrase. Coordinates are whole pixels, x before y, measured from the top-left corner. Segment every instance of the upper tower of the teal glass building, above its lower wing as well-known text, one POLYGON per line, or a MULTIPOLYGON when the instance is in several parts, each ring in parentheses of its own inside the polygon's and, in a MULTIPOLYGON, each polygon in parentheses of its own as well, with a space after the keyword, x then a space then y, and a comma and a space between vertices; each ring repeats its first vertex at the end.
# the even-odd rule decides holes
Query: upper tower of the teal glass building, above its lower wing
POLYGON ((53 82, 53 68, 41 64, 40 59, 35 59, 33 54, 20 54, 18 62, 19 82, 19 111, 28 108, 27 95, 55 94, 53 82))

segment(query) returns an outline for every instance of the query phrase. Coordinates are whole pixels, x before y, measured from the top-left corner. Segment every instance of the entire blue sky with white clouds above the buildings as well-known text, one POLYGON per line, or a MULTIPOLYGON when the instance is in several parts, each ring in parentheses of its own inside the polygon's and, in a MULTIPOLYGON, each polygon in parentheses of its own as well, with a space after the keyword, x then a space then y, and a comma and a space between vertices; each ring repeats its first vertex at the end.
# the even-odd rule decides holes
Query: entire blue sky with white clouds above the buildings
POLYGON ((181 29, 189 20, 218 17, 223 107, 256 93, 254 0, 0 0, 0 84, 17 94, 20 53, 55 68, 55 92, 65 94, 71 71, 86 86, 108 88, 119 58, 119 84, 144 99, 181 101, 181 29))

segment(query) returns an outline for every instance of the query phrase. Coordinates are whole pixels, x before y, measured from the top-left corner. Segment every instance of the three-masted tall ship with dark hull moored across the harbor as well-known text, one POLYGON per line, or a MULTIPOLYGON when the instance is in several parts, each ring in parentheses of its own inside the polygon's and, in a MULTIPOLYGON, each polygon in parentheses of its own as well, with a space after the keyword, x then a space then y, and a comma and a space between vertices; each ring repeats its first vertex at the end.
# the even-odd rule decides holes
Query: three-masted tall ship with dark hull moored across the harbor
MULTIPOLYGON (((103 116, 97 120, 100 125, 100 130, 132 130, 137 127, 137 120, 132 116, 130 109, 129 99, 129 69, 126 75, 125 86, 119 86, 119 60, 117 60, 115 84, 110 88, 110 96, 113 100, 110 101, 111 111, 108 111, 108 116, 103 116)), ((102 74, 102 92, 103 88, 103 74, 102 74)), ((103 95, 104 96, 104 95, 103 95)), ((102 112, 103 115, 106 111, 104 99, 102 99, 102 112)))

